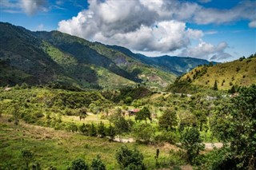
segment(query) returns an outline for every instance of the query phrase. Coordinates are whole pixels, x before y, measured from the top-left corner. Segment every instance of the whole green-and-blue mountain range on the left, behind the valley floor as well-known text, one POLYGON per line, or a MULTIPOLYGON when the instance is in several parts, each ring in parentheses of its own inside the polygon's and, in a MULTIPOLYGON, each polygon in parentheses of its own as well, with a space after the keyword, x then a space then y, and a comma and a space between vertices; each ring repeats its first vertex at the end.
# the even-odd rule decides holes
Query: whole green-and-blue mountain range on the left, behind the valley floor
POLYGON ((102 89, 144 83, 161 88, 195 66, 209 64, 191 57, 146 57, 121 46, 3 22, 0 47, 0 85, 102 89))

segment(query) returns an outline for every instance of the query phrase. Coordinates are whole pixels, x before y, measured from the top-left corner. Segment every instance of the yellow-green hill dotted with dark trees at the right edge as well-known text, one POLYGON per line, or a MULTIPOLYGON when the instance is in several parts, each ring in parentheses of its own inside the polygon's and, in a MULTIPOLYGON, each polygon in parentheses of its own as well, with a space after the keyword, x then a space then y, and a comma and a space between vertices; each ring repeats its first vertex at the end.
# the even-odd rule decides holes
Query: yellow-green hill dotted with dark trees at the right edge
POLYGON ((255 84, 256 54, 213 66, 198 66, 180 77, 176 84, 190 83, 190 85, 213 89, 215 81, 218 89, 224 90, 231 89, 233 86, 238 89, 241 86, 255 84))

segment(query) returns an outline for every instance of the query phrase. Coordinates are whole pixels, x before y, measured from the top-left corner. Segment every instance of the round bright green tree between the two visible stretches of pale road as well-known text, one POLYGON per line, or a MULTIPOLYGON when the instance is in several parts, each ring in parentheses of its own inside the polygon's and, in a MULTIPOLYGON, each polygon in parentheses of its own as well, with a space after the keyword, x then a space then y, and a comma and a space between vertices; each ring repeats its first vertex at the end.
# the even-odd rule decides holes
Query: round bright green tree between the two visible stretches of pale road
POLYGON ((154 128, 150 124, 140 124, 133 128, 135 140, 145 142, 146 144, 152 140, 154 136, 154 128))

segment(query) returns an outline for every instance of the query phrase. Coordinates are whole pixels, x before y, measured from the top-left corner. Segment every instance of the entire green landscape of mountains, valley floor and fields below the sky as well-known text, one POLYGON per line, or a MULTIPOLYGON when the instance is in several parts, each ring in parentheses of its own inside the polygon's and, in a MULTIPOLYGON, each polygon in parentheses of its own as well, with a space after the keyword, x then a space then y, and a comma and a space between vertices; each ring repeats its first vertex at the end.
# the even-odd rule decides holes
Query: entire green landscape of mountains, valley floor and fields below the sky
POLYGON ((146 57, 4 22, 0 45, 0 169, 255 168, 256 54, 146 57))

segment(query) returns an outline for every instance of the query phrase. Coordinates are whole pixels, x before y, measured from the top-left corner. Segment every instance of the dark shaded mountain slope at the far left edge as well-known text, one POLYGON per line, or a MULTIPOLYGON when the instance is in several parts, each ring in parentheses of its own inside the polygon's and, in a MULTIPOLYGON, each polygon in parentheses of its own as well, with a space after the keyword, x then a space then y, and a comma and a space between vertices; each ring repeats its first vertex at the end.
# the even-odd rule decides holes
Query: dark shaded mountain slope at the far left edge
POLYGON ((0 22, 0 85, 75 83, 42 51, 42 41, 22 27, 0 22))

